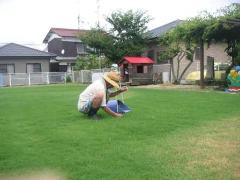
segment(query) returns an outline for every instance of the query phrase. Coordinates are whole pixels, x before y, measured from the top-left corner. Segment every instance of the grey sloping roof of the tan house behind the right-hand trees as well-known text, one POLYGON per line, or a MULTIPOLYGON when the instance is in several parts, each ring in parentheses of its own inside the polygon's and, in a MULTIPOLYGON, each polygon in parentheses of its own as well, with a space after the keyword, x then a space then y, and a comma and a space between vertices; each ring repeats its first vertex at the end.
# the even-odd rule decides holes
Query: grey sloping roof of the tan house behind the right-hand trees
POLYGON ((160 27, 150 30, 148 32, 148 35, 150 36, 150 38, 160 37, 167 31, 169 31, 169 30, 175 28, 177 25, 181 24, 182 22, 183 22, 183 20, 179 20, 179 19, 172 21, 168 24, 165 24, 163 26, 160 26, 160 27))

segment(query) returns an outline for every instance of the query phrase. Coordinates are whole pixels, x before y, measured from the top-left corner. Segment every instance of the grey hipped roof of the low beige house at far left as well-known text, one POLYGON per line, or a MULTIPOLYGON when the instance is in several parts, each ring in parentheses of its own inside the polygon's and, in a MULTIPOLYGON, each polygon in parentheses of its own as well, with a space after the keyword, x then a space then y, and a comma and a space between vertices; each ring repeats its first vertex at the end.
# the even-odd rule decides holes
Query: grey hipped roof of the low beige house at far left
POLYGON ((0 57, 55 57, 53 53, 9 43, 0 47, 0 57))

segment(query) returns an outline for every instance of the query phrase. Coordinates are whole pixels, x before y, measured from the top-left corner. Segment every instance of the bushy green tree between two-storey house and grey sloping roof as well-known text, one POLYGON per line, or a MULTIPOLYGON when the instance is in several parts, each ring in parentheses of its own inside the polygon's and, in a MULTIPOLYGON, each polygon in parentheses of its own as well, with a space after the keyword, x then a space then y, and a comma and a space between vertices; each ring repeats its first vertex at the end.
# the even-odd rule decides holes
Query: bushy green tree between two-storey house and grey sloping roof
POLYGON ((145 12, 132 10, 113 12, 106 21, 109 31, 96 28, 83 38, 83 41, 97 52, 103 53, 112 62, 123 56, 140 56, 146 47, 146 24, 150 18, 145 12))

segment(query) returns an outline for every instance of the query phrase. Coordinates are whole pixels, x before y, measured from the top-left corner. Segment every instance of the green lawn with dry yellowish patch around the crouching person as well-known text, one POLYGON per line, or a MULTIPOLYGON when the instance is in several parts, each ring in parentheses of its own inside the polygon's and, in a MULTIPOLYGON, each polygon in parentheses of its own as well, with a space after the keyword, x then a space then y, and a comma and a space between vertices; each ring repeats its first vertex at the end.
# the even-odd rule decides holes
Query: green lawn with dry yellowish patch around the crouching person
POLYGON ((0 179, 240 179, 240 96, 130 88, 132 112, 77 112, 80 85, 0 88, 0 179))

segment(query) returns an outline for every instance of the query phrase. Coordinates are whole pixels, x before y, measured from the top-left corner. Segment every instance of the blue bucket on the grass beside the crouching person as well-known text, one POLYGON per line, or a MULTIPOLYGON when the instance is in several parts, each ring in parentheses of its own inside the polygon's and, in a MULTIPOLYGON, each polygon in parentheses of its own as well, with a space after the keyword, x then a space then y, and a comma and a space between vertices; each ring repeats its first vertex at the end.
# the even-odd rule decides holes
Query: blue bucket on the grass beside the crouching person
POLYGON ((130 112, 131 109, 127 107, 122 101, 120 100, 110 100, 107 102, 107 107, 110 108, 112 111, 116 113, 127 113, 130 112))

